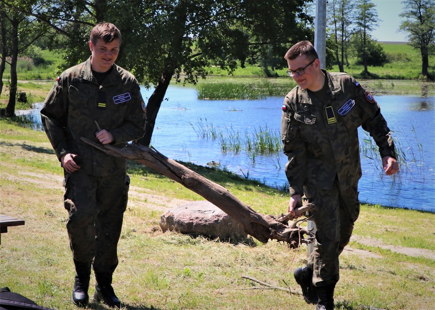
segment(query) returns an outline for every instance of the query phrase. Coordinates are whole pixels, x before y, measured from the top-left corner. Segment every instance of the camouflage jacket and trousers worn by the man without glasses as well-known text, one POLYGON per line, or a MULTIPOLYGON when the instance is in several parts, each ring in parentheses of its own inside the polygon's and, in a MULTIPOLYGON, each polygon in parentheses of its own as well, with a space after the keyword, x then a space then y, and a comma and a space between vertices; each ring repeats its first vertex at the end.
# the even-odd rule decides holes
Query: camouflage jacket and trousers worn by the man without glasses
POLYGON ((83 143, 100 143, 95 121, 117 146, 143 136, 145 107, 132 74, 113 65, 101 86, 92 75, 91 58, 62 73, 41 110, 45 132, 57 158, 77 154, 80 169, 65 172, 64 204, 74 260, 91 262, 96 272, 111 273, 118 264, 117 244, 127 206, 129 179, 125 159, 83 143))

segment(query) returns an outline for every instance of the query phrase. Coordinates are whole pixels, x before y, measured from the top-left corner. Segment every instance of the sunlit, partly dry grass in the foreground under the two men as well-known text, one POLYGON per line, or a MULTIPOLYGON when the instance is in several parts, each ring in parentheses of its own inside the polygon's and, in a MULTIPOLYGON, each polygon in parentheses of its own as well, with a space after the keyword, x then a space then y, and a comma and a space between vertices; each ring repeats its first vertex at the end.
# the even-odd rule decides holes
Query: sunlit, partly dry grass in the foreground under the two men
MULTIPOLYGON (((76 310, 71 302, 74 269, 65 228, 63 173, 43 132, 0 119, 0 213, 25 220, 9 228, 0 245, 0 286, 40 305, 76 310)), ((226 171, 186 163, 226 187, 263 214, 286 210, 287 192, 226 171)), ((203 200, 182 185, 137 162, 129 162, 129 203, 119 244, 113 287, 126 309, 313 309, 301 296, 264 289, 300 290, 293 270, 306 262, 299 251, 269 241, 221 242, 176 232, 162 233, 160 215, 170 206, 203 200), (287 287, 288 285, 288 287, 287 287)), ((394 247, 434 251, 435 214, 363 205, 356 236, 394 247)), ((429 310, 435 306, 434 260, 352 241, 340 258, 336 309, 429 310)), ((91 280, 93 294, 95 280, 91 280)), ((105 309, 91 303, 94 310, 105 309)))

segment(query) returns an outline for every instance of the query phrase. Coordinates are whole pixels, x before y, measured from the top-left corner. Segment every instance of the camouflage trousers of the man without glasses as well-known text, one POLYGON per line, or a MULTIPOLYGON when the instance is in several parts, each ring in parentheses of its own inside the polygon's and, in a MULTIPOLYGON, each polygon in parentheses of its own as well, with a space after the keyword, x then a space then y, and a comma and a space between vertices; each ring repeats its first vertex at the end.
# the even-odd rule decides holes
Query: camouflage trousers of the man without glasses
POLYGON ((73 259, 93 262, 95 272, 118 266, 118 241, 127 207, 130 180, 125 172, 95 177, 80 170, 65 173, 64 206, 73 259))

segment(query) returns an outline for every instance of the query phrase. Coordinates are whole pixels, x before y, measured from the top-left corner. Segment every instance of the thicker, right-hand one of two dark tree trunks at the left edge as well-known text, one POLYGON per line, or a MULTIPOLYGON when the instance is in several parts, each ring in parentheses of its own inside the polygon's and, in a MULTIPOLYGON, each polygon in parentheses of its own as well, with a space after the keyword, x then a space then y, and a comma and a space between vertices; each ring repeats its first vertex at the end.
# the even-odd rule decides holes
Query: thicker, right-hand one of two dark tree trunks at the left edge
POLYGON ((9 102, 6 107, 6 115, 8 117, 15 116, 15 100, 17 97, 17 61, 18 61, 18 25, 19 21, 16 16, 11 20, 12 24, 12 60, 11 60, 11 84, 9 89, 9 102))

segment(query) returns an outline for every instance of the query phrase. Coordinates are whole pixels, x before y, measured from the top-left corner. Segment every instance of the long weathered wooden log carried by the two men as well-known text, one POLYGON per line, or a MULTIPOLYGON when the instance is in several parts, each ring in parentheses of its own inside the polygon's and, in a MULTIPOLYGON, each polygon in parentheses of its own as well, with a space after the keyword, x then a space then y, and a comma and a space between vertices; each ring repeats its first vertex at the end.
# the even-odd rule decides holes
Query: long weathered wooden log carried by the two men
MULTIPOLYGON (((135 160, 169 179, 177 181, 238 221, 245 233, 260 242, 267 243, 269 239, 276 239, 286 242, 288 246, 294 248, 298 247, 300 243, 311 243, 314 240, 314 235, 311 232, 287 226, 286 221, 291 218, 288 214, 280 216, 281 220, 284 218, 282 222, 272 216, 259 214, 237 199, 225 187, 197 174, 175 160, 167 158, 154 148, 128 144, 119 149, 110 145, 96 144, 84 137, 81 137, 81 140, 112 156, 135 160), (307 236, 304 237, 304 235, 307 236)), ((296 211, 298 215, 301 215, 307 210, 309 210, 309 206, 296 211)))

